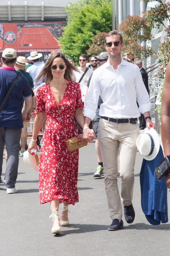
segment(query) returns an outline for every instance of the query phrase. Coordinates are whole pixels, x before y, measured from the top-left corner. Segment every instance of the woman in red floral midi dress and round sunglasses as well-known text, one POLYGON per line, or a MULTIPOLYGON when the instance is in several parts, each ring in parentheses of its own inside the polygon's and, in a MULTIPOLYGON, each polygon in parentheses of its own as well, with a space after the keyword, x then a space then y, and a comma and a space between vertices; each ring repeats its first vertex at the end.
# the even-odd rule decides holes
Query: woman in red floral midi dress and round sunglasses
POLYGON ((53 217, 52 233, 54 234, 60 233, 60 226, 69 225, 68 205, 78 202, 79 151, 69 152, 67 150, 64 133, 65 128, 67 138, 78 136, 74 117, 80 126, 84 125, 80 84, 73 82, 74 70, 77 71, 77 68, 60 52, 52 54, 47 60, 37 78, 37 80, 45 78, 46 83, 39 87, 36 93, 36 117, 32 140, 28 147, 28 151, 37 148, 36 138, 46 116, 40 151, 39 192, 40 204, 50 201, 52 210, 50 217, 53 217), (59 219, 60 203, 63 203, 63 206, 59 219))

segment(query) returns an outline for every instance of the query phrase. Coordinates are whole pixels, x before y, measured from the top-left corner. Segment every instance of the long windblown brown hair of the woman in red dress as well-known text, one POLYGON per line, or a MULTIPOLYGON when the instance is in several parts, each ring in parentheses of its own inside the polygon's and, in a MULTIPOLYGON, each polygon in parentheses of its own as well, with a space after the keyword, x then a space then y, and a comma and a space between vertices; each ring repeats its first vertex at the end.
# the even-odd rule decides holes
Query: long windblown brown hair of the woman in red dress
POLYGON ((79 70, 74 66, 71 62, 69 62, 66 57, 61 53, 61 52, 55 52, 53 53, 47 60, 44 68, 41 70, 39 76, 36 79, 36 83, 42 79, 42 81, 45 78, 45 82, 50 82, 53 79, 52 72, 51 72, 51 66, 52 62, 55 58, 62 58, 67 65, 67 68, 64 73, 64 78, 67 80, 75 81, 75 76, 73 71, 78 71, 79 70))

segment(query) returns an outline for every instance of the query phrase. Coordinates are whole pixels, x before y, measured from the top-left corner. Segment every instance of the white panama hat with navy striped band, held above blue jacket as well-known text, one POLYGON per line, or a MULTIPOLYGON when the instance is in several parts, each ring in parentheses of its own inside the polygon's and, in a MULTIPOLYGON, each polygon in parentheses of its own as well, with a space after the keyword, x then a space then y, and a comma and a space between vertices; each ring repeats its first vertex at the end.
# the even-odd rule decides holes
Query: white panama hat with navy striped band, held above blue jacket
POLYGON ((138 136, 136 146, 146 160, 153 160, 160 148, 159 136, 155 129, 146 127, 138 136))

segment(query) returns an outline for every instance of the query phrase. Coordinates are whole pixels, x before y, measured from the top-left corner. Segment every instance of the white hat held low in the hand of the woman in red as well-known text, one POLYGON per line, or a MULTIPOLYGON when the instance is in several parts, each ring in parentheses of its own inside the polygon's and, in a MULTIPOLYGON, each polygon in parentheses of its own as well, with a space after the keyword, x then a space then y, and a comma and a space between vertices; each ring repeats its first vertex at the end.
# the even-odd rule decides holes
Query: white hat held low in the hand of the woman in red
POLYGON ((28 151, 23 153, 23 161, 26 165, 32 166, 36 172, 39 172, 39 153, 31 155, 28 151))

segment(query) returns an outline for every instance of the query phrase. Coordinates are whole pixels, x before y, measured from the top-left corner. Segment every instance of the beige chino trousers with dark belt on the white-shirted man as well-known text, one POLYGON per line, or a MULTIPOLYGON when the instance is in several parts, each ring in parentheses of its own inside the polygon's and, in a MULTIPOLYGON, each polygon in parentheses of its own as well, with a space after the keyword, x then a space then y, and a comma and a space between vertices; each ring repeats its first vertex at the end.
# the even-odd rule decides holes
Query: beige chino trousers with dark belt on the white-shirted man
POLYGON ((139 125, 100 119, 99 143, 103 159, 105 190, 111 219, 122 219, 122 203, 128 206, 133 198, 136 140, 139 125), (121 199, 117 185, 117 150, 119 150, 119 172, 122 181, 121 199))

